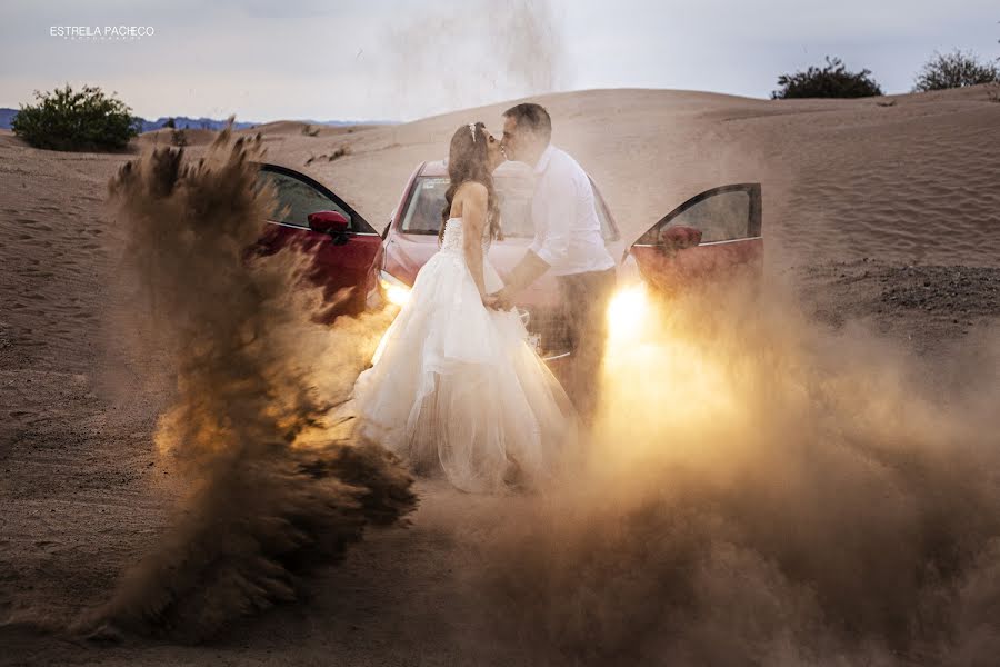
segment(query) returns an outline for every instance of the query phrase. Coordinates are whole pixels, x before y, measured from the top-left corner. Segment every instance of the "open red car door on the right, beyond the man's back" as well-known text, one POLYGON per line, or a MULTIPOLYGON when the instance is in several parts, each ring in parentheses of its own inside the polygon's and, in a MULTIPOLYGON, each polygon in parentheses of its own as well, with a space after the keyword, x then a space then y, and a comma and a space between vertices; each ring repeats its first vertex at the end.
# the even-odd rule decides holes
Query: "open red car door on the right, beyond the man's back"
POLYGON ((652 287, 687 285, 750 272, 763 260, 760 183, 734 183, 692 197, 652 226, 629 249, 652 287))

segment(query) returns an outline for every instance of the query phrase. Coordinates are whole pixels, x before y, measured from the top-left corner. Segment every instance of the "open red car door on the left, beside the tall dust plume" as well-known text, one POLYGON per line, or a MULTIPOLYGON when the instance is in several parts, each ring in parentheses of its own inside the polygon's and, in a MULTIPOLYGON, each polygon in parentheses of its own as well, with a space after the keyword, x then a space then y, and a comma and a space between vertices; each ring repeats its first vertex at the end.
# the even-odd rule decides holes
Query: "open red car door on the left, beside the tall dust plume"
POLYGON ((258 182, 274 187, 277 207, 258 241, 263 255, 298 248, 312 256, 310 280, 323 288, 320 319, 358 313, 378 285, 382 238, 319 181, 287 167, 260 165, 258 182))

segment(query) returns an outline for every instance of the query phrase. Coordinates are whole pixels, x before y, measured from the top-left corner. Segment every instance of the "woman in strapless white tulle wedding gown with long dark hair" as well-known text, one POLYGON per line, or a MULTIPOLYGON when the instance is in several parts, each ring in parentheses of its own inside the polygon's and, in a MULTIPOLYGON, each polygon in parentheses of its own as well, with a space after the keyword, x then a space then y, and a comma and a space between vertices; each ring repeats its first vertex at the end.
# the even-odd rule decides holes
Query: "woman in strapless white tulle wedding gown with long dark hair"
POLYGON ((469 492, 536 486, 577 428, 520 316, 488 296, 503 287, 486 255, 500 235, 492 171, 504 159, 483 123, 454 132, 440 249, 354 386, 364 436, 469 492))

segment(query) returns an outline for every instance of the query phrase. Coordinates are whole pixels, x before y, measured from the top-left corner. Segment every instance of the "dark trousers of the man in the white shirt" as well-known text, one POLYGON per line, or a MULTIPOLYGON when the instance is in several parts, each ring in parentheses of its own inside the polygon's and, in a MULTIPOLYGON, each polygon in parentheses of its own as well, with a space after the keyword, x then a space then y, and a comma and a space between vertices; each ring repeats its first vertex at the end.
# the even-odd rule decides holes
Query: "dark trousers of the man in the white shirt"
POLYGON ((600 400, 600 369, 608 338, 608 302, 614 292, 614 269, 559 276, 567 335, 573 354, 566 376, 566 392, 586 422, 600 400))

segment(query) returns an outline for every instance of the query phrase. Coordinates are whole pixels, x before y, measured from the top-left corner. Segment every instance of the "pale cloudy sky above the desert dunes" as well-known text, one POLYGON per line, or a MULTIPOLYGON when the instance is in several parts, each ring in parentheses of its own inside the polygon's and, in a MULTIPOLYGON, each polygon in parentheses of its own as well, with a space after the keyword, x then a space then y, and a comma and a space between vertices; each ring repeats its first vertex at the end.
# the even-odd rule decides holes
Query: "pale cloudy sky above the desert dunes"
POLYGON ((887 92, 936 50, 1000 56, 997 0, 6 0, 0 107, 91 83, 146 118, 411 120, 540 92, 766 98, 839 56, 887 92), (138 40, 57 27, 152 28, 138 40))

